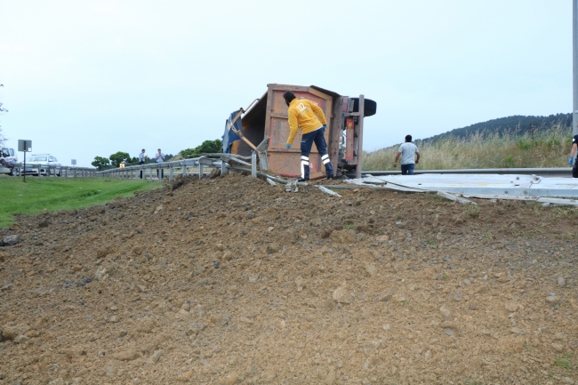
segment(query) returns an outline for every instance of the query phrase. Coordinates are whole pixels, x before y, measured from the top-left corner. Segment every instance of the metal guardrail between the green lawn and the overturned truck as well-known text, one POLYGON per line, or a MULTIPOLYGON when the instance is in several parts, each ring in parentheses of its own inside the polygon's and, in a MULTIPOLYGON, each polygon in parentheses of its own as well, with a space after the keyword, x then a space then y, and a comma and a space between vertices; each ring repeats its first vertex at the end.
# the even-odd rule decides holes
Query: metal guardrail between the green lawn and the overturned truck
POLYGON ((95 172, 96 176, 120 179, 149 179, 153 180, 153 170, 157 170, 157 180, 160 182, 165 178, 165 170, 168 173, 168 179, 173 180, 174 175, 187 176, 189 173, 198 174, 199 179, 206 173, 206 167, 213 167, 221 169, 221 173, 226 172, 230 167, 230 162, 237 162, 251 166, 253 176, 257 172, 257 158, 256 156, 238 156, 235 154, 199 154, 200 156, 177 160, 173 162, 159 162, 149 164, 137 164, 126 167, 114 168, 110 170, 103 170, 95 172), (245 162, 250 160, 251 163, 245 162), (227 163, 229 161, 229 163, 227 163), (197 168, 198 172, 189 172, 188 168, 197 168))

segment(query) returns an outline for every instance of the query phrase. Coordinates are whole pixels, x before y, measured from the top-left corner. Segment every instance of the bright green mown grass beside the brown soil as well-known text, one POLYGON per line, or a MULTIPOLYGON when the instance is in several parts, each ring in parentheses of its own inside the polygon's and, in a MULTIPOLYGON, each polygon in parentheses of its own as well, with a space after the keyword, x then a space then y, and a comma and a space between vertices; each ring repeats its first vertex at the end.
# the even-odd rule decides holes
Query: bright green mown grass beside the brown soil
POLYGON ((109 180, 104 178, 0 178, 0 227, 14 221, 13 215, 60 210, 76 210, 103 205, 116 197, 131 197, 137 190, 162 186, 140 180, 109 180))

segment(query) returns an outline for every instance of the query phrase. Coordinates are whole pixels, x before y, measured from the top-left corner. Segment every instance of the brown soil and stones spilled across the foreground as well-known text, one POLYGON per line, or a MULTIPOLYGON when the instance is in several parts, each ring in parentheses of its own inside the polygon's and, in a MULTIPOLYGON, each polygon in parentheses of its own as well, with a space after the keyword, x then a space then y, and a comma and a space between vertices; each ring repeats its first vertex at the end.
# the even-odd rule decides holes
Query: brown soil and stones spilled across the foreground
POLYGON ((578 383, 574 208, 185 181, 0 229, 0 384, 578 383))

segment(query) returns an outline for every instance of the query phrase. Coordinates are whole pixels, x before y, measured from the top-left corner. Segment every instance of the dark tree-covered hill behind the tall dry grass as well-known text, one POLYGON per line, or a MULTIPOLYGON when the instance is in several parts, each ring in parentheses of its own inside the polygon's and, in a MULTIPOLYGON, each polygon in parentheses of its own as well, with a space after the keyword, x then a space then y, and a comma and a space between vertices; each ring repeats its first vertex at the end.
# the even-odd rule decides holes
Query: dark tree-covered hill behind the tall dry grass
POLYGON ((500 117, 498 119, 488 120, 487 122, 471 124, 467 127, 455 128, 452 131, 421 139, 421 141, 435 141, 448 137, 464 138, 476 132, 484 134, 502 134, 504 132, 524 134, 530 132, 532 124, 534 124, 534 132, 550 129, 554 125, 568 127, 572 126, 572 114, 556 114, 550 116, 514 115, 500 117))

